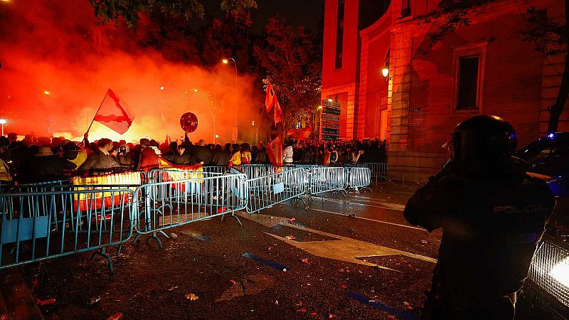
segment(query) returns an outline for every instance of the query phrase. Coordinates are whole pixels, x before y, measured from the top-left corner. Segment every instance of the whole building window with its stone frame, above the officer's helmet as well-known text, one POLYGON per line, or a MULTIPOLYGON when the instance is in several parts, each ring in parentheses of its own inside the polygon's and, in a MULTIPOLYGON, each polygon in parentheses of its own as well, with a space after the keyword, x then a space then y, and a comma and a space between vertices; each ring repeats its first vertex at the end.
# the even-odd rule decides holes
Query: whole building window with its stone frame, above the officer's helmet
POLYGON ((482 112, 487 42, 454 48, 452 110, 482 112))

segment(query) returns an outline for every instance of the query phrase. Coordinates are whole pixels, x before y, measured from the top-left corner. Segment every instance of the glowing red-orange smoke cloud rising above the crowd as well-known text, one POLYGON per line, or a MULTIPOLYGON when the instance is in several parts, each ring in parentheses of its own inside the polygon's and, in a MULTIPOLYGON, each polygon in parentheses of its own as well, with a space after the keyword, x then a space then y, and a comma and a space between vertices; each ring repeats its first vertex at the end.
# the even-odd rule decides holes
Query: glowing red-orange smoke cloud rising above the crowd
MULTIPOLYGON (((159 52, 137 46, 142 28, 135 33, 114 24, 97 26, 87 0, 1 1, 0 117, 8 121, 5 133, 81 137, 112 88, 136 118, 122 136, 95 122, 91 140, 132 141, 147 136, 164 141, 166 134, 174 140, 183 134, 181 114, 191 111, 199 120, 191 138, 211 142, 209 107, 216 118, 217 142, 232 140, 233 65, 220 62, 213 70, 204 70, 171 63, 159 52)), ((238 78, 240 139, 252 137, 245 131, 253 129, 251 121, 259 119, 262 104, 253 99, 251 79, 238 78)))

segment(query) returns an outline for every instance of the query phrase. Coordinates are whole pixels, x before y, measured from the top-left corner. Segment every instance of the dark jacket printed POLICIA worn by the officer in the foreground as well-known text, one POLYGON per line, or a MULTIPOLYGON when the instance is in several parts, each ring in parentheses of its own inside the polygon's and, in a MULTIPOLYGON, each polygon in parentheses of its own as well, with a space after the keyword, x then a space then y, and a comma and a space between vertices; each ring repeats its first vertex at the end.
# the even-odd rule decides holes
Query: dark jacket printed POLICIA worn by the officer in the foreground
POLYGON ((409 223, 442 228, 433 288, 450 317, 488 319, 480 306, 521 289, 554 206, 544 181, 507 161, 445 166, 410 198, 409 223))

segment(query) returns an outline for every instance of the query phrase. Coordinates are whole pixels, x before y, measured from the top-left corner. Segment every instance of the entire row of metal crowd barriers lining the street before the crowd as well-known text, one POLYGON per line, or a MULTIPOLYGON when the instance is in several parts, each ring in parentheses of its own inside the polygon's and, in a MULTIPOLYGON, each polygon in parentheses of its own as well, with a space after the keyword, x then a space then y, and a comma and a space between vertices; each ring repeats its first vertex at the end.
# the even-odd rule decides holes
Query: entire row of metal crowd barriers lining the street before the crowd
POLYGON ((243 165, 198 170, 159 169, 70 181, 6 185, 0 193, 0 269, 74 253, 95 251, 137 233, 158 234, 199 220, 247 210, 259 212, 301 196, 368 186, 371 168, 243 165), (238 171, 242 170, 243 173, 238 171))

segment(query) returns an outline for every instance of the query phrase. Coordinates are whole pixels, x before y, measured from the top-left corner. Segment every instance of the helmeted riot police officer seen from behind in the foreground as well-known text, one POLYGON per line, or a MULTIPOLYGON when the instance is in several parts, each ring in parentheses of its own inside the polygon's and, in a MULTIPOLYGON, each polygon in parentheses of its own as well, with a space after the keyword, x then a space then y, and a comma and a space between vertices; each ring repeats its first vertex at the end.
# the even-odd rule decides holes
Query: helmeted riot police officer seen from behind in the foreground
POLYGON ((500 117, 459 124, 450 160, 405 206, 405 219, 442 228, 423 319, 513 319, 555 198, 511 156, 516 132, 500 117))

